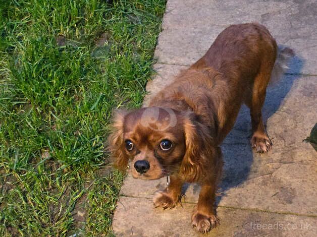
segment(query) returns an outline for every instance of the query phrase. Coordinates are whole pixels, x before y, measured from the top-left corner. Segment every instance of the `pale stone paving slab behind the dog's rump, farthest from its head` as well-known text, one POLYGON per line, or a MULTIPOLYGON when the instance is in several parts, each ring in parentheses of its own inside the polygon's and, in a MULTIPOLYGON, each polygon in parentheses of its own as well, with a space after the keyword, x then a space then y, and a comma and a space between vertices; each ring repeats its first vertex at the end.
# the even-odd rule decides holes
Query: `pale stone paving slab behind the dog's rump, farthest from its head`
POLYGON ((317 75, 317 3, 312 1, 168 1, 155 57, 159 63, 191 65, 231 24, 259 22, 278 44, 292 47, 297 68, 317 75))

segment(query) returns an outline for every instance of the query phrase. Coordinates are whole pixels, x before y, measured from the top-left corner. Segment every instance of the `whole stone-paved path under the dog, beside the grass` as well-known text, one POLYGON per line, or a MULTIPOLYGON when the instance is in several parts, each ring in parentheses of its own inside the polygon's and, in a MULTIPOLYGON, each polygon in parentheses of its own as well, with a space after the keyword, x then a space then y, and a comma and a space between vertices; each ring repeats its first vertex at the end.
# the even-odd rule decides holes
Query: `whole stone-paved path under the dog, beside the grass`
MULTIPOLYGON (((158 37, 151 94, 200 58, 230 24, 259 22, 295 50, 284 78, 268 89, 263 116, 273 150, 253 154, 250 117, 243 106, 222 145, 225 167, 218 198, 221 225, 208 236, 317 236, 317 152, 302 140, 317 122, 317 2, 169 0, 158 37)), ((199 187, 187 188, 183 207, 153 209, 166 179, 135 180, 121 190, 113 229, 118 236, 200 236, 191 227, 199 187)), ((205 236, 205 235, 204 235, 205 236)))

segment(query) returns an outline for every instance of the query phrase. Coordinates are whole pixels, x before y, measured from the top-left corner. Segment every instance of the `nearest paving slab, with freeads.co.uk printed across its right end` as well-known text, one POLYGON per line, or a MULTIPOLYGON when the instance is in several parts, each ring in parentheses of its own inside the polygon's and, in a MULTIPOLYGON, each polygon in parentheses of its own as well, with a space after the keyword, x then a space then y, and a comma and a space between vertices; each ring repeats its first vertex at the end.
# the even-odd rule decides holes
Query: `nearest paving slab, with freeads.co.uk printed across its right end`
MULTIPOLYGON (((194 204, 154 209, 151 200, 121 197, 114 229, 117 236, 206 236, 196 232, 190 223, 194 204)), ((234 208, 217 209, 220 225, 208 236, 317 236, 317 219, 234 208)))

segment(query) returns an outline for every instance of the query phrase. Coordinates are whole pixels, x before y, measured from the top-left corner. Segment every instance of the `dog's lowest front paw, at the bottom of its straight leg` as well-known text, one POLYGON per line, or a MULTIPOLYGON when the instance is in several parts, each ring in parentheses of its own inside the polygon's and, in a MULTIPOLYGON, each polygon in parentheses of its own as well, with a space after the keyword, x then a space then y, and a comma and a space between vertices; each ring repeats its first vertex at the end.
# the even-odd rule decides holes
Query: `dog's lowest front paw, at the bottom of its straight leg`
POLYGON ((206 216, 195 211, 191 217, 191 223, 199 232, 207 233, 219 224, 219 219, 216 215, 210 214, 206 216))

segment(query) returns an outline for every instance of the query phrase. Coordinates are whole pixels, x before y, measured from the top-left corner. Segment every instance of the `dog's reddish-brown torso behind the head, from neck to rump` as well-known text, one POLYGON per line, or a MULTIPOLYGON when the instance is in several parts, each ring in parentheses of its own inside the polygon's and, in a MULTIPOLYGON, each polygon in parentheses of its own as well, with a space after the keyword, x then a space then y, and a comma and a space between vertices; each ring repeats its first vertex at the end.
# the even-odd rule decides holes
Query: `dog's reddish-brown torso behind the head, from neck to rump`
MULTIPOLYGON (((287 48, 282 59, 287 61, 285 55, 291 54, 287 48)), ((216 140, 221 143, 245 103, 254 120, 252 130, 266 136, 264 128, 257 126, 262 124, 261 108, 271 74, 281 74, 281 64, 275 64, 277 56, 276 41, 265 26, 229 26, 200 60, 178 75, 149 105, 194 111, 202 123, 216 128, 216 140)))

